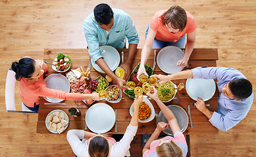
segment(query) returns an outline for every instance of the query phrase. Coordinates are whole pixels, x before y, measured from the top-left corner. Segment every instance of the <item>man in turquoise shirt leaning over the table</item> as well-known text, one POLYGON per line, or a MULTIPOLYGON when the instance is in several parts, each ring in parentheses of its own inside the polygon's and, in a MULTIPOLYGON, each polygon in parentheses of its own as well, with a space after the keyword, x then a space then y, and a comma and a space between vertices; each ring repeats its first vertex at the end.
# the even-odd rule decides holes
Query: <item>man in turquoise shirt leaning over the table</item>
POLYGON ((120 65, 125 69, 124 79, 127 79, 130 75, 130 64, 139 43, 138 31, 130 16, 122 10, 112 10, 107 4, 99 4, 94 8, 93 13, 84 20, 83 29, 92 60, 115 80, 119 88, 126 89, 125 80, 116 77, 103 60, 99 46, 110 45, 115 48, 124 48, 124 38, 127 37, 128 59, 120 65))

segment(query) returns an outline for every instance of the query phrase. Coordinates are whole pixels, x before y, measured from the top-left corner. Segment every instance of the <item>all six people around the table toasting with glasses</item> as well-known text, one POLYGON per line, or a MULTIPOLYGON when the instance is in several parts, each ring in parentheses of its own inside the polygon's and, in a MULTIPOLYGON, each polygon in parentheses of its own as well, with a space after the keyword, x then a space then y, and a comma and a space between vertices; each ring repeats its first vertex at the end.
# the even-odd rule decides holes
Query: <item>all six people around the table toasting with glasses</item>
MULTIPOLYGON (((165 46, 178 46, 184 48, 187 36, 184 58, 179 60, 177 66, 186 67, 195 44, 195 29, 197 24, 193 16, 182 7, 172 6, 168 10, 159 10, 145 31, 145 44, 141 52, 141 64, 138 70, 138 80, 145 72, 145 62, 151 48, 165 46)), ((89 54, 95 63, 119 86, 126 89, 126 79, 131 73, 130 65, 139 43, 139 35, 134 22, 126 12, 120 9, 111 9, 107 4, 97 5, 83 24, 84 34, 88 43, 89 54), (124 79, 116 77, 109 69, 99 46, 110 45, 115 48, 126 48, 125 37, 128 39, 128 59, 120 67, 126 71, 124 79)), ((32 111, 38 111, 39 97, 53 97, 59 99, 94 99, 101 100, 95 94, 75 94, 47 88, 43 80, 43 73, 47 65, 41 60, 24 57, 12 65, 16 73, 16 80, 20 85, 22 103, 32 111)), ((172 75, 153 75, 159 79, 158 84, 176 79, 217 79, 218 86, 218 113, 205 107, 205 102, 198 97, 195 107, 201 111, 209 122, 219 130, 230 130, 240 122, 251 108, 253 103, 253 89, 251 82, 240 71, 228 67, 197 67, 188 71, 180 71, 172 75)), ((157 128, 143 148, 143 156, 186 156, 188 146, 181 132, 178 122, 170 109, 159 100, 157 90, 148 96, 152 97, 159 105, 168 123, 159 122, 157 128), (170 126, 174 137, 166 136, 157 139, 161 131, 170 126)), ((142 101, 141 96, 134 99, 134 113, 122 139, 116 142, 111 133, 96 134, 84 130, 69 130, 66 137, 76 156, 128 156, 130 143, 138 129, 138 111, 142 101), (80 139, 86 139, 80 141, 80 139)))

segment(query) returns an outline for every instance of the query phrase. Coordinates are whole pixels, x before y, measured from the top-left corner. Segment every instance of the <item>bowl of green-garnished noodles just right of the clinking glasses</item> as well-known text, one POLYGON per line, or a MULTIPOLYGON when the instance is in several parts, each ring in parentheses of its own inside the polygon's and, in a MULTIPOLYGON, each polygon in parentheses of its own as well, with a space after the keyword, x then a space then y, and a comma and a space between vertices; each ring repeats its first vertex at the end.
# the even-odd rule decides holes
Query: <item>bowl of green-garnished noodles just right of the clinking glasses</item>
POLYGON ((155 87, 157 89, 158 97, 163 103, 167 103, 171 101, 177 92, 176 84, 172 83, 172 81, 167 81, 159 86, 155 87))

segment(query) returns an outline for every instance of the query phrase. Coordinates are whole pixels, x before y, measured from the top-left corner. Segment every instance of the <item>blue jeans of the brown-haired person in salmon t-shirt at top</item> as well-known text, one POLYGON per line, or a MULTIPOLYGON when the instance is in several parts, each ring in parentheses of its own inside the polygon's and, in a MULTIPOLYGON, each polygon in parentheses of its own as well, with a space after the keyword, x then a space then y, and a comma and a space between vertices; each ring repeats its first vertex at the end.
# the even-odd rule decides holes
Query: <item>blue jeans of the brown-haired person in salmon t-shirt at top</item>
MULTIPOLYGON (((145 38, 147 39, 147 33, 149 31, 149 26, 147 26, 147 30, 145 32, 145 38)), ((159 41, 157 39, 154 39, 152 48, 164 48, 165 46, 176 46, 179 48, 185 48, 185 39, 186 35, 183 35, 182 38, 180 38, 176 42, 165 42, 165 41, 159 41)))

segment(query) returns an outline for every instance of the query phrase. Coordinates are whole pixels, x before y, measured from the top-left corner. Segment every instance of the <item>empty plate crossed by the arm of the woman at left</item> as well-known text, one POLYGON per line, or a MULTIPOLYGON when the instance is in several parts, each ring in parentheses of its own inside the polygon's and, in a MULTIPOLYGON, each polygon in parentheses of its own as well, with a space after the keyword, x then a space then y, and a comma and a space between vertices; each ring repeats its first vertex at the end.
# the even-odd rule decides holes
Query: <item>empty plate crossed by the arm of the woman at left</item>
MULTIPOLYGON (((64 92, 70 92, 70 84, 68 79, 61 74, 51 74, 45 78, 45 83, 47 88, 51 88, 54 90, 62 90, 64 92)), ((55 99, 51 97, 43 97, 46 101, 50 103, 59 103, 63 101, 63 99, 55 99)))

